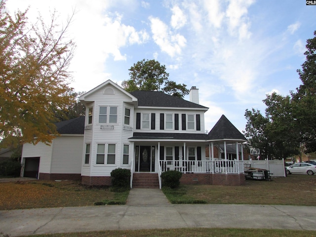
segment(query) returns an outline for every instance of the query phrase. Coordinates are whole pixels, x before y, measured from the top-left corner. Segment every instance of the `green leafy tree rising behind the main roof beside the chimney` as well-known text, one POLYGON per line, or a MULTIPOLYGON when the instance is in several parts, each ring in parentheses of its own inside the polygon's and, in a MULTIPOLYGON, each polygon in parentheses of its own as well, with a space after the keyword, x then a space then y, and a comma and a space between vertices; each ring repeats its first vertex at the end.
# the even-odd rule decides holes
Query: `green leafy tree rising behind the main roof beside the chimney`
POLYGON ((189 94, 185 84, 177 84, 168 80, 169 74, 164 65, 156 60, 138 61, 129 69, 129 80, 122 82, 122 87, 128 91, 146 90, 162 91, 166 94, 183 98, 189 94))

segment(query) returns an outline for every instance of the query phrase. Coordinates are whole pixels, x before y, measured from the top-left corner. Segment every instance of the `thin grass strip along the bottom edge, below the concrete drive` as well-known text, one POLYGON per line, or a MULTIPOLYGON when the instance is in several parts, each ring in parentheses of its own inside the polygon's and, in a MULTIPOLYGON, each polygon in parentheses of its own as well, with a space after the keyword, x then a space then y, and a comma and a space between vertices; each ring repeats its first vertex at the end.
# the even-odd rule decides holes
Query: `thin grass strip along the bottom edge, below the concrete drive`
MULTIPOLYGON (((1 236, 1 235, 0 235, 1 236)), ((162 230, 99 231, 28 237, 316 237, 316 231, 182 228, 162 230)))

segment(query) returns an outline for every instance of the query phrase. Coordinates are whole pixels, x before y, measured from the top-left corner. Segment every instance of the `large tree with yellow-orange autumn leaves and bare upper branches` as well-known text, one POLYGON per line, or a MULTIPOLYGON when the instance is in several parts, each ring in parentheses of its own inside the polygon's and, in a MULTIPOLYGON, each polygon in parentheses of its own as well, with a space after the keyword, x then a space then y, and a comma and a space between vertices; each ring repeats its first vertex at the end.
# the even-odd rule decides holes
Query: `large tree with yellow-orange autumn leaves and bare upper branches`
POLYGON ((0 138, 2 146, 22 142, 50 143, 57 134, 54 108, 66 109, 75 100, 67 79, 74 42, 67 24, 51 22, 27 28, 25 12, 11 17, 0 2, 0 138))

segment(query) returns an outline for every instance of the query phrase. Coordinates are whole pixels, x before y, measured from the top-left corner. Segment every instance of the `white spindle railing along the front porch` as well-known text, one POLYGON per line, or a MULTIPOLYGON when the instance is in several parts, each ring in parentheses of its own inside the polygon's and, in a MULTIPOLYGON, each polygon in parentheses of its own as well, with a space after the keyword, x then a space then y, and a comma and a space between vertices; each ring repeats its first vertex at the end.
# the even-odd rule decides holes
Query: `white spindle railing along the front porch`
POLYGON ((182 173, 243 173, 243 160, 159 160, 161 172, 178 170, 182 173))

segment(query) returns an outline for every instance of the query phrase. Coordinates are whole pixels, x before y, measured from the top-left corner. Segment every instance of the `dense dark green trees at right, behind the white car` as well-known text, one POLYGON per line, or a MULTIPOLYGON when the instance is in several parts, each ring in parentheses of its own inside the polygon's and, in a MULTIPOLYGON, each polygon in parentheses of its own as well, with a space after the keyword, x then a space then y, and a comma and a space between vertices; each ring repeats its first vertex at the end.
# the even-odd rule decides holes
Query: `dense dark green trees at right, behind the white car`
POLYGON ((249 143, 269 146, 275 158, 316 151, 316 31, 314 36, 307 40, 306 61, 302 70, 297 70, 302 84, 296 92, 285 97, 267 95, 265 117, 254 109, 245 113, 249 143), (257 137, 264 137, 267 143, 257 137))

